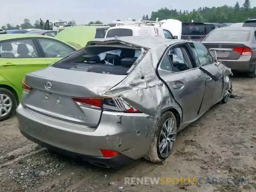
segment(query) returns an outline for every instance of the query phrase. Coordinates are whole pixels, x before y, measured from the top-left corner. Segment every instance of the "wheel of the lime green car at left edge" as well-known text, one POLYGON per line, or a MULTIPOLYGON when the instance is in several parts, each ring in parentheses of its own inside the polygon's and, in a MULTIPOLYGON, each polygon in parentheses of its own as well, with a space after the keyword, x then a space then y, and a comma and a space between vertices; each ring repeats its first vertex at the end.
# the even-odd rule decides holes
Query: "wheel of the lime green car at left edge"
POLYGON ((16 106, 17 100, 14 94, 6 88, 0 88, 0 121, 10 118, 16 106))

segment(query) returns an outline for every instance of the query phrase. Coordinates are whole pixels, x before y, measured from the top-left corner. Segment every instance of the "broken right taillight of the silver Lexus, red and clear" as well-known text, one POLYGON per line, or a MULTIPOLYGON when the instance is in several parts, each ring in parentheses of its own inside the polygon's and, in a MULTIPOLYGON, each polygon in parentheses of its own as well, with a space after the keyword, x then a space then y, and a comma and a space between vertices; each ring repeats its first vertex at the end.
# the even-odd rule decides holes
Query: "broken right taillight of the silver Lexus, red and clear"
POLYGON ((121 98, 72 98, 78 105, 106 111, 141 113, 121 98))

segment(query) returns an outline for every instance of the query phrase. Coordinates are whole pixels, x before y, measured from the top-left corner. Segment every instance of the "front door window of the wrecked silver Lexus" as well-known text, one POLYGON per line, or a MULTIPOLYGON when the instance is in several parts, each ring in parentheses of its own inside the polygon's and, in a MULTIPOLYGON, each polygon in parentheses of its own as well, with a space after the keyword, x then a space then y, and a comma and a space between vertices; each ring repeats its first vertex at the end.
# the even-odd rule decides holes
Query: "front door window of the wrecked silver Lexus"
POLYGON ((203 44, 199 42, 193 42, 193 45, 194 45, 194 53, 198 57, 198 60, 201 66, 210 65, 214 62, 210 52, 203 44))

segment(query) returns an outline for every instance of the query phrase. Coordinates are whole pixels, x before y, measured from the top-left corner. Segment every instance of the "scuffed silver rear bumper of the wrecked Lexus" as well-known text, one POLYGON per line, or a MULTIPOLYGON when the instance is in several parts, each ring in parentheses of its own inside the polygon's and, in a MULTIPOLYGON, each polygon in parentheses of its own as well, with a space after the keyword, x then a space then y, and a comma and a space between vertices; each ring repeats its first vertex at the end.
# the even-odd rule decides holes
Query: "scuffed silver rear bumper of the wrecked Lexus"
POLYGON ((103 112, 96 129, 68 124, 36 114, 21 104, 16 109, 19 129, 28 139, 58 150, 103 158, 100 149, 115 150, 131 159, 144 156, 151 142, 154 120, 146 114, 103 112))

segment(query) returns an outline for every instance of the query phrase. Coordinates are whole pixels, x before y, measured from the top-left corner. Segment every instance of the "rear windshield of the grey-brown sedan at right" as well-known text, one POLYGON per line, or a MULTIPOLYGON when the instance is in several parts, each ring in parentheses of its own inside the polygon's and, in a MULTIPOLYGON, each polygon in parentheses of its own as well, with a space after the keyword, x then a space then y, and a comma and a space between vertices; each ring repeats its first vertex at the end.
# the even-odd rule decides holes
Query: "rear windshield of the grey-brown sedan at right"
POLYGON ((248 41, 250 31, 220 30, 211 32, 204 41, 248 41))

